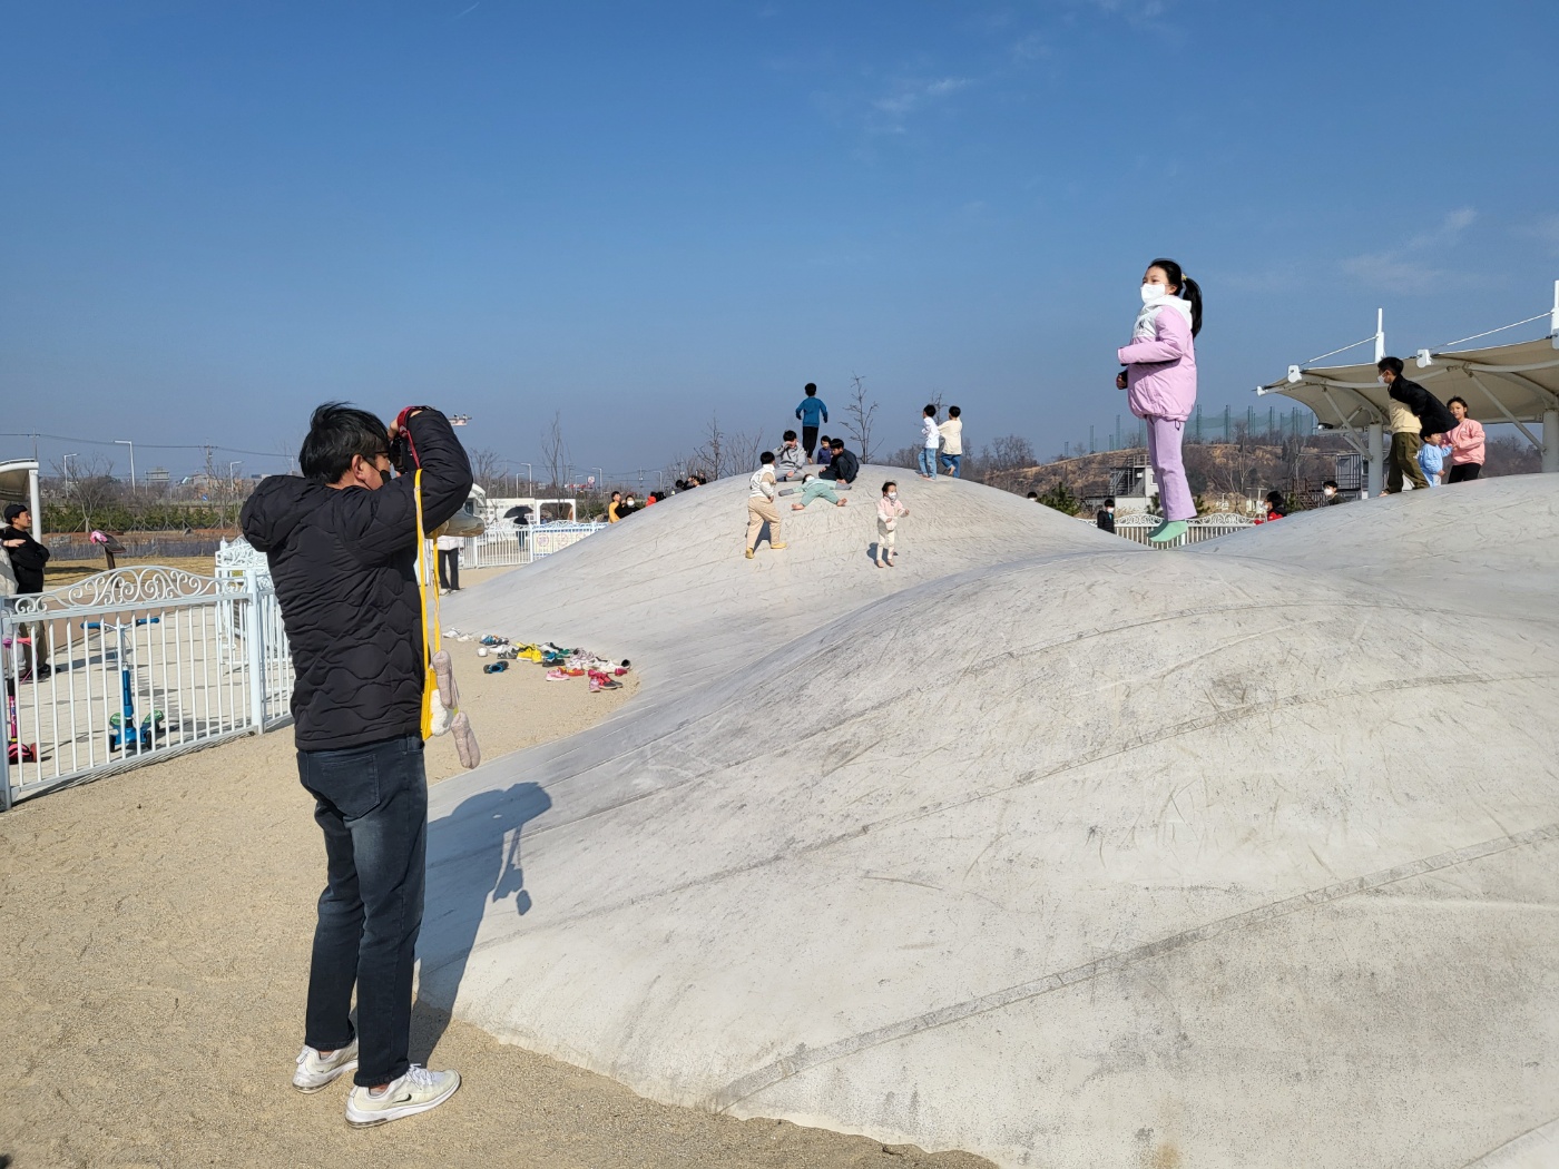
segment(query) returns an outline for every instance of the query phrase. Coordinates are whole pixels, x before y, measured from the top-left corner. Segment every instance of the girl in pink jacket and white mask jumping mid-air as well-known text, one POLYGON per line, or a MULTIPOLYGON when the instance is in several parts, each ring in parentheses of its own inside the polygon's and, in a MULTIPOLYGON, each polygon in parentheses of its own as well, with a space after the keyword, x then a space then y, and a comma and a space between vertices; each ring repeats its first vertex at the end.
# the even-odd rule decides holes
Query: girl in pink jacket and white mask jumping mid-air
MULTIPOLYGON (((1143 274, 1143 310, 1132 327, 1132 343, 1119 349, 1132 413, 1147 424, 1147 461, 1158 480, 1165 519, 1149 536, 1168 544, 1185 535, 1196 516, 1191 488, 1180 461, 1185 419, 1196 405, 1196 346, 1202 332, 1202 290, 1174 260, 1154 260, 1143 274)), ((1122 383, 1124 380, 1124 383, 1122 383)))

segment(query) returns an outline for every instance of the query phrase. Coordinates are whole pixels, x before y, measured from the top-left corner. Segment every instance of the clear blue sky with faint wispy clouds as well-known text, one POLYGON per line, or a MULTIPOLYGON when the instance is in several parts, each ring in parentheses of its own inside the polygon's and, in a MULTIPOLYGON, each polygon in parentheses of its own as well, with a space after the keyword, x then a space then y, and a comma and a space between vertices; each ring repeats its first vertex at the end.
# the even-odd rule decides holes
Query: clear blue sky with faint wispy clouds
POLYGON ((426 401, 620 471, 859 373, 886 446, 940 391, 1052 454, 1124 410, 1155 254, 1244 410, 1377 305, 1398 351, 1548 305, 1554 44, 1498 0, 5 0, 0 429, 179 469, 426 401))

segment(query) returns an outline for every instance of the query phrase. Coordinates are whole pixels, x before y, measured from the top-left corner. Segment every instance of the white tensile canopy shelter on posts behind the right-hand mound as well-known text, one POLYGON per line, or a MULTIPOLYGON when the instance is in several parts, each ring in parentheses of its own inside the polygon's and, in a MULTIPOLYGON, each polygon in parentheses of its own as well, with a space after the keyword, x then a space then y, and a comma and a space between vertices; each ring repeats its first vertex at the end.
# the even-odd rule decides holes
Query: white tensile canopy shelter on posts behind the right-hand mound
MULTIPOLYGON (((1377 326, 1375 337, 1359 344, 1369 340, 1375 341, 1375 360, 1380 360, 1386 351, 1384 329, 1377 326)), ((1554 282, 1548 337, 1484 349, 1419 349, 1417 358, 1408 365, 1408 376, 1442 402, 1464 397, 1467 413, 1479 422, 1514 424, 1542 454, 1543 471, 1559 471, 1559 281, 1554 282), (1540 436, 1531 429, 1534 422, 1542 426, 1540 436)), ((1377 380, 1375 362, 1317 368, 1294 365, 1288 377, 1257 387, 1257 393, 1292 397, 1310 407, 1322 426, 1341 430, 1369 464, 1370 494, 1380 494, 1383 433, 1389 413, 1386 387, 1377 380)))

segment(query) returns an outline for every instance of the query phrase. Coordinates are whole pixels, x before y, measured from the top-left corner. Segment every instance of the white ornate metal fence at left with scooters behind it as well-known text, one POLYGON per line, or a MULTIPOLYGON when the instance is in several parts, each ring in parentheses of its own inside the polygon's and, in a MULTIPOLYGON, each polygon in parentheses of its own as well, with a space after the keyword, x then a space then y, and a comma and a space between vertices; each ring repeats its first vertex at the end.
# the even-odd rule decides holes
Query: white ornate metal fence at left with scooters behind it
POLYGON ((288 717, 292 656, 270 575, 117 569, 11 599, 0 616, 16 800, 288 717))

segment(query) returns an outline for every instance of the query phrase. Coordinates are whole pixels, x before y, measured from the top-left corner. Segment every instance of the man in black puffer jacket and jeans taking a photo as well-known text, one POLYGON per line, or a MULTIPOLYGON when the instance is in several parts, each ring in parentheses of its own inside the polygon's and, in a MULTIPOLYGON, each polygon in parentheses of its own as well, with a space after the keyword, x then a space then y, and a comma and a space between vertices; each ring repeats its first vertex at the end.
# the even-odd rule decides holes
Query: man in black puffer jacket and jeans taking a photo
MULTIPOLYGON (((432 532, 471 494, 471 463, 441 413, 419 407, 405 419, 432 532)), ((346 1097, 354 1125, 427 1111, 460 1086, 458 1074, 408 1060, 427 776, 419 533, 413 477, 390 479, 398 436, 365 410, 327 402, 298 455, 304 477, 267 479, 242 514, 282 605, 298 775, 315 798, 327 864, 293 1085, 318 1091, 357 1068, 346 1097)))

